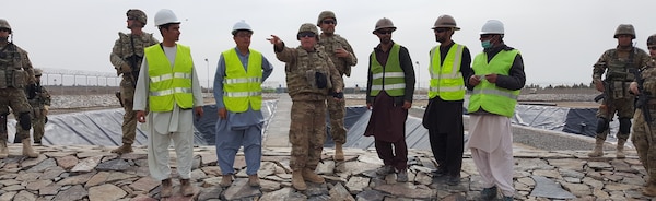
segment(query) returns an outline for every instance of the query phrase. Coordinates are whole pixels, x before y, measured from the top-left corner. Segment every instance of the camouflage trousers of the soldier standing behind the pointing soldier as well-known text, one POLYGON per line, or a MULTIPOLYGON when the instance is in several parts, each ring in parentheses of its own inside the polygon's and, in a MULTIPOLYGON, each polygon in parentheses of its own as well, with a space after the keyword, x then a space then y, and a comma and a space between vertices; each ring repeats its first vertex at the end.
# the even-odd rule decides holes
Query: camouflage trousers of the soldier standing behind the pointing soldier
POLYGON ((328 114, 330 116, 330 135, 336 144, 347 143, 347 128, 344 128, 344 116, 347 104, 343 99, 336 100, 332 96, 326 97, 328 114))

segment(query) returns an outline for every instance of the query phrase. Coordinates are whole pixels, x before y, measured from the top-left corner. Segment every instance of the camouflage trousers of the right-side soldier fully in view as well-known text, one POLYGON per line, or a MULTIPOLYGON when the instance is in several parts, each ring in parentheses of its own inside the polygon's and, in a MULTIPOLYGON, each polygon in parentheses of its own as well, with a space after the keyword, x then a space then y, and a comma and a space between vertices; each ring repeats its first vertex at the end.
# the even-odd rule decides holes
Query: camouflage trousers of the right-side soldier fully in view
MULTIPOLYGON (((631 118, 633 118, 633 113, 635 111, 633 109, 633 100, 634 99, 635 99, 634 96, 631 96, 628 98, 613 99, 612 103, 608 104, 608 105, 604 104, 604 105, 599 106, 599 110, 597 110, 597 118, 602 117, 607 121, 609 121, 617 114, 618 119, 620 119, 620 118, 631 119, 631 118)), ((630 133, 621 133, 620 131, 618 131, 617 138, 618 139, 629 139, 629 134, 630 133)), ((608 131, 605 131, 601 133, 597 133, 597 135, 595 138, 606 141, 607 135, 608 135, 608 131)))

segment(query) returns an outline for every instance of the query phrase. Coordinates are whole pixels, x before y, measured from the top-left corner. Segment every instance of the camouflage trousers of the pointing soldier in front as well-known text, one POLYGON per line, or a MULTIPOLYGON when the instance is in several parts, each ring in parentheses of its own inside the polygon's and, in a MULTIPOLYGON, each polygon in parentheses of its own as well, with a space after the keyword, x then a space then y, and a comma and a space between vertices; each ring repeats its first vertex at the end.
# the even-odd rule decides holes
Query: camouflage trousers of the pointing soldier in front
POLYGON ((326 140, 326 102, 294 100, 291 114, 290 167, 294 172, 303 168, 314 170, 321 159, 326 140))

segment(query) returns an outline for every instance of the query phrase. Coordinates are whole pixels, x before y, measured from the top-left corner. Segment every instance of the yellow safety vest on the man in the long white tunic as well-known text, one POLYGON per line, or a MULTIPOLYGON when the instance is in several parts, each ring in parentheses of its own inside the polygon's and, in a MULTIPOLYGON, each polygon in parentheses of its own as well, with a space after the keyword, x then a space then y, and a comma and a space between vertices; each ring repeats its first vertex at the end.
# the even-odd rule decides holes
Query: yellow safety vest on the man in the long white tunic
POLYGON ((151 111, 172 111, 173 104, 183 109, 194 107, 191 73, 194 61, 187 46, 176 45, 173 68, 160 44, 144 49, 149 64, 149 107, 151 111))

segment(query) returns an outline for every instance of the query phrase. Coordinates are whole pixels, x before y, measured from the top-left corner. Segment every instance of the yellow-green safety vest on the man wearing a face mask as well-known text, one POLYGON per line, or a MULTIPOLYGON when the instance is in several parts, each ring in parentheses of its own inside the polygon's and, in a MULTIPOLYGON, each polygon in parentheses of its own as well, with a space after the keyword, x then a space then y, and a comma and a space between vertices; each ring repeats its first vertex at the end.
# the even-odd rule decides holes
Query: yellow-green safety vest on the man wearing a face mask
MULTIPOLYGON (((508 75, 517 55, 519 55, 519 51, 516 49, 502 50, 488 63, 488 55, 481 52, 473 59, 471 69, 477 75, 491 73, 508 75)), ((519 90, 497 87, 496 84, 481 79, 481 82, 473 87, 467 109, 469 113, 473 113, 482 108, 492 114, 512 117, 513 113, 515 113, 518 96, 519 90)))

